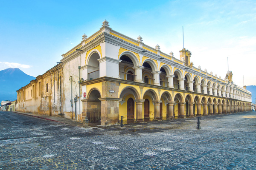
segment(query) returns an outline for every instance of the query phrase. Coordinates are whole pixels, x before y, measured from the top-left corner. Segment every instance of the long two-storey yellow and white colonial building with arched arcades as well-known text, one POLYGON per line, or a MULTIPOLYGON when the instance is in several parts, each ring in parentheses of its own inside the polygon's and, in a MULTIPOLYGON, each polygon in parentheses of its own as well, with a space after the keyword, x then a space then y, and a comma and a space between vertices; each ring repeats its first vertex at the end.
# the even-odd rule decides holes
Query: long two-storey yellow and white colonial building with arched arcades
POLYGON ((191 62, 112 30, 105 20, 62 55, 61 64, 17 91, 17 111, 61 115, 113 125, 135 121, 251 110, 251 92, 191 62))

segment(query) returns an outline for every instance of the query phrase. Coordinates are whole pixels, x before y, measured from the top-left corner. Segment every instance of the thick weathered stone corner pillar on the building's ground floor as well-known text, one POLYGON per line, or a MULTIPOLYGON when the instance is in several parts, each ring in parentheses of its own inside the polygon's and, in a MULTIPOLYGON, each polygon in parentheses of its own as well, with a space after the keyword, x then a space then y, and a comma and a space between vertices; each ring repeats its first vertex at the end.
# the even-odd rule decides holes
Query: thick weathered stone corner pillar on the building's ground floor
POLYGON ((101 125, 114 125, 119 122, 119 98, 99 98, 101 101, 101 125))

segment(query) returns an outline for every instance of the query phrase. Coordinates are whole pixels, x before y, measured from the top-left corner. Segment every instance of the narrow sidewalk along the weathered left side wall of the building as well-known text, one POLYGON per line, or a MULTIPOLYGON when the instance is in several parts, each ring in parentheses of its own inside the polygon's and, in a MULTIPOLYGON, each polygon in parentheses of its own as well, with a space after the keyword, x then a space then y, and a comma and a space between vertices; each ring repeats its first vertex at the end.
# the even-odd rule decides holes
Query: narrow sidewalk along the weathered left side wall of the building
POLYGON ((14 113, 23 114, 23 115, 32 116, 32 117, 37 117, 37 118, 40 118, 40 119, 46 119, 46 120, 50 120, 50 121, 54 121, 54 122, 67 124, 67 125, 83 127, 83 122, 68 119, 68 118, 65 118, 65 117, 47 116, 47 115, 40 115, 40 114, 34 114, 34 113, 24 113, 24 112, 17 112, 17 111, 15 111, 14 113))

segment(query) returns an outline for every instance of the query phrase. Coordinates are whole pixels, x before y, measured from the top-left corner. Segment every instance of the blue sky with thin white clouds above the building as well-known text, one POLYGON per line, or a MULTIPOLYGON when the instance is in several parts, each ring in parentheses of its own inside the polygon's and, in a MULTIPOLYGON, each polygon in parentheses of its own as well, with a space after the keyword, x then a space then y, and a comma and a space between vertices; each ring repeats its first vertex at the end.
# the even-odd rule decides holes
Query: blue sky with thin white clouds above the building
POLYGON ((135 40, 179 58, 184 47, 191 61, 218 77, 233 72, 240 86, 256 85, 255 0, 35 1, 0 0, 0 70, 18 67, 38 76, 52 68, 104 20, 135 40))

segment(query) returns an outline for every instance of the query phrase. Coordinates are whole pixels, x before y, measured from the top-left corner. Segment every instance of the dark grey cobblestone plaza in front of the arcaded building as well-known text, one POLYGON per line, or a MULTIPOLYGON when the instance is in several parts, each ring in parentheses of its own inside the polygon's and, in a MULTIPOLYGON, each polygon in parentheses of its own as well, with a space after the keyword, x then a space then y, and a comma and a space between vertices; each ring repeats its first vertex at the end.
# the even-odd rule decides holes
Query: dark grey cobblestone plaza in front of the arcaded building
POLYGON ((256 112, 76 127, 0 112, 3 170, 254 170, 256 112))

